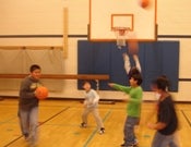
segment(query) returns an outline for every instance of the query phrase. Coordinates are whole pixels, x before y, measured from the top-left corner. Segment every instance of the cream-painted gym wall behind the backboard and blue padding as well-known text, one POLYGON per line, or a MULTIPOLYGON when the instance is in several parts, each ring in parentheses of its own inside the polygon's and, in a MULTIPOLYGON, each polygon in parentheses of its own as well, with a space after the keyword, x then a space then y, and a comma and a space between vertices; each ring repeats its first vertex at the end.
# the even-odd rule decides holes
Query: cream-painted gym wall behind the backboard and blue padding
MULTIPOLYGON (((102 0, 100 0, 102 1, 102 0)), ((88 24, 88 0, 0 0, 0 35, 62 35, 63 8, 69 9, 69 35, 86 35, 88 24)), ((158 0, 158 35, 191 35, 191 1, 158 0)), ((144 29, 144 28, 143 28, 144 29)), ((69 54, 63 59, 63 73, 76 74, 77 40, 69 38, 69 54)), ((159 38, 180 41, 179 77, 191 76, 191 38, 159 38)), ((62 46, 62 38, 0 38, 0 46, 62 46)), ((3 65, 3 64, 1 64, 3 65)), ((8 86, 9 87, 9 86, 8 86)), ((191 101, 191 82, 179 82, 175 99, 191 101)), ((120 91, 99 91, 102 98, 121 99, 120 91)), ((0 95, 17 96, 17 90, 2 90, 0 95)), ((82 98, 76 81, 63 81, 62 91, 50 93, 51 97, 82 98)), ((151 100, 152 93, 144 93, 151 100)))

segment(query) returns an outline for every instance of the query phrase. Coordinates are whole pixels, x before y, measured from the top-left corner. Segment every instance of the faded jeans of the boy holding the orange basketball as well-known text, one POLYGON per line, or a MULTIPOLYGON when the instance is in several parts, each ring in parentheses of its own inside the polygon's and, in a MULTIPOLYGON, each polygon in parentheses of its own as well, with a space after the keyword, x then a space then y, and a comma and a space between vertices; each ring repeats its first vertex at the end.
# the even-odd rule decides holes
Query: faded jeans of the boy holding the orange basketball
POLYGON ((19 109, 19 119, 22 134, 29 138, 29 142, 37 142, 38 107, 29 110, 19 109))

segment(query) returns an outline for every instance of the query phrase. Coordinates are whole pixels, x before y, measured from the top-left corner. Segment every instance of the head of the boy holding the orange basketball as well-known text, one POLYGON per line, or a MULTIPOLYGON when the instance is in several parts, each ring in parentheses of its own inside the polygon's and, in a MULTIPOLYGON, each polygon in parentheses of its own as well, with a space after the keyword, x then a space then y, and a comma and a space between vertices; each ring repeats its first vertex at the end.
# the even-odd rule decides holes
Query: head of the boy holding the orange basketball
POLYGON ((29 73, 31 76, 35 79, 39 79, 40 78, 40 74, 41 74, 41 69, 38 64, 33 64, 29 68, 29 73))

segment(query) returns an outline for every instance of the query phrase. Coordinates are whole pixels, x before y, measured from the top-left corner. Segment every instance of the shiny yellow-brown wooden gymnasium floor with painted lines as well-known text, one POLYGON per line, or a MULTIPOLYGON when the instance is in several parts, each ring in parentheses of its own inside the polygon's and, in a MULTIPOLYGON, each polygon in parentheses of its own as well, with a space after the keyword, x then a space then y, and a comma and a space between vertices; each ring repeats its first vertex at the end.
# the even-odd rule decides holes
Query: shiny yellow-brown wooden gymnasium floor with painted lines
MULTIPOLYGON (((143 102, 141 125, 136 128, 139 147, 150 147, 154 131, 143 122, 152 110, 152 102, 143 102)), ((87 128, 81 128, 83 105, 80 100, 43 100, 39 105, 39 140, 37 147, 120 147, 123 137, 126 102, 115 105, 100 103, 99 112, 104 120, 106 133, 99 135, 96 124, 89 115, 87 128)), ((0 147, 27 147, 21 136, 16 117, 17 100, 0 101, 0 147)), ((180 120, 181 147, 190 147, 191 105, 178 103, 180 120)))

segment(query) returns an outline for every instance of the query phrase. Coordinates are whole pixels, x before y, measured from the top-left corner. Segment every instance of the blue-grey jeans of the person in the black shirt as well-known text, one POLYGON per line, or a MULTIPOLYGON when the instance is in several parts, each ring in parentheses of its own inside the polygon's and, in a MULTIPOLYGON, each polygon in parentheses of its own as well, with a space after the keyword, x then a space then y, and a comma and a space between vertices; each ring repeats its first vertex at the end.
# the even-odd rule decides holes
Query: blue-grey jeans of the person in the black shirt
POLYGON ((179 147, 179 143, 176 134, 163 135, 159 132, 156 132, 152 147, 179 147))

